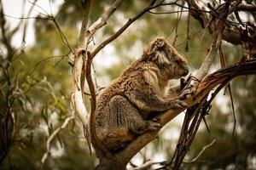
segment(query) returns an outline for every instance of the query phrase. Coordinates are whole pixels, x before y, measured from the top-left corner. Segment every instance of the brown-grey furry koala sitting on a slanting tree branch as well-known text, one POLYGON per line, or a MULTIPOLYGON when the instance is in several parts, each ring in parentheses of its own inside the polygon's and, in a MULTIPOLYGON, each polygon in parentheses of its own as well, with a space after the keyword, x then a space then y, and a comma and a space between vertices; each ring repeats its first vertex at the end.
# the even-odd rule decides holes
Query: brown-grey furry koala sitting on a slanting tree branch
POLYGON ((161 127, 150 113, 188 105, 177 97, 179 87, 168 81, 188 74, 187 61, 162 37, 129 65, 97 96, 96 136, 110 151, 125 147, 138 134, 161 127))

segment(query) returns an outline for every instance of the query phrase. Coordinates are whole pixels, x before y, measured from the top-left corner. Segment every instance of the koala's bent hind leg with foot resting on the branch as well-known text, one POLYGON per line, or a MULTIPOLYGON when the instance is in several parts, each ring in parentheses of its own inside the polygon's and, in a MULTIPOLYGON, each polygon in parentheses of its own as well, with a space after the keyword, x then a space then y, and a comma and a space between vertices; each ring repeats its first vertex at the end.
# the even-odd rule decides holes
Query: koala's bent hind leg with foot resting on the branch
POLYGON ((123 96, 114 96, 108 104, 113 126, 127 127, 133 133, 144 133, 147 130, 157 130, 161 127, 155 119, 143 120, 137 109, 123 96))

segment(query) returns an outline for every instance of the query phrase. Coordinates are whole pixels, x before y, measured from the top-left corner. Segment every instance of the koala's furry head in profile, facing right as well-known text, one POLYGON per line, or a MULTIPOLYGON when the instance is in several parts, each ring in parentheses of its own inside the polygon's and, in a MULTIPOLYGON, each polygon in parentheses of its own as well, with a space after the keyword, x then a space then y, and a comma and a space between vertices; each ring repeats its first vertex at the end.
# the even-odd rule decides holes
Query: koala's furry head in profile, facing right
POLYGON ((177 79, 189 73, 187 60, 162 37, 149 45, 144 57, 158 65, 161 74, 167 79, 177 79))

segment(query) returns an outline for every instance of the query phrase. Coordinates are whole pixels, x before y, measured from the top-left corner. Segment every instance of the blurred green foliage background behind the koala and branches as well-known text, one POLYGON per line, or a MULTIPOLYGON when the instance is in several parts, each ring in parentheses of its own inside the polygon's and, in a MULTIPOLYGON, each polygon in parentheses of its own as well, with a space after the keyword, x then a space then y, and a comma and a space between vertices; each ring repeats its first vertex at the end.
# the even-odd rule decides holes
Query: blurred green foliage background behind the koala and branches
MULTIPOLYGON (((54 3, 54 2, 53 2, 54 3)), ((97 20, 112 1, 93 1, 90 23, 97 20)), ((108 25, 96 34, 94 42, 102 42, 122 26, 126 20, 137 14, 148 1, 125 1, 108 20, 108 25)), ((0 117, 9 112, 15 117, 9 151, 0 163, 0 169, 36 169, 46 150, 49 134, 71 114, 71 66, 70 49, 76 48, 83 8, 80 1, 66 0, 58 7, 58 26, 67 38, 70 47, 62 42, 60 32, 51 20, 33 20, 35 41, 29 46, 13 46, 13 59, 8 60, 6 47, 1 44, 0 54, 0 117), (12 99, 9 93, 14 93, 12 99)), ((4 9, 4 8, 3 8, 4 9)), ((21 9, 20 9, 21 10, 21 9)), ((173 8, 158 8, 170 11, 173 8)), ((189 61, 191 73, 195 72, 207 55, 211 36, 199 23, 190 18, 191 39, 187 41, 188 15, 183 14, 177 25, 179 14, 145 14, 125 33, 109 44, 94 61, 98 88, 108 85, 118 77, 134 59, 143 53, 143 48, 155 37, 166 37, 177 51, 189 61), (187 48, 186 48, 187 47, 187 48)), ((1 20, 3 20, 1 18, 1 20)), ((7 22, 5 31, 10 34, 7 22)), ((19 34, 19 31, 18 33, 19 34)), ((9 36, 9 38, 15 38, 9 36)), ((62 37, 63 38, 63 37, 62 37)), ((3 37, 1 35, 1 43, 3 37)), ((11 42, 17 41, 12 39, 11 42)), ((20 41, 20 40, 19 40, 20 41)), ((241 47, 224 42, 227 63, 238 61, 241 47)), ((91 45, 90 48, 95 48, 91 45)), ((212 71, 220 68, 215 59, 212 71)), ((201 123, 195 141, 186 160, 195 157, 201 149, 216 139, 198 161, 184 164, 183 169, 253 169, 256 167, 256 88, 255 77, 239 77, 231 82, 236 110, 236 132, 232 136, 234 119, 228 93, 220 93, 212 105, 207 124, 201 123), (225 94, 225 95, 224 95, 225 94)), ((88 97, 89 101, 89 97, 88 97)), ((87 105, 89 107, 89 105, 87 105)), ((5 117, 6 118, 6 117, 5 117)), ((131 160, 134 164, 143 158, 165 161, 172 158, 183 113, 170 122, 160 133, 159 139, 148 144, 131 160)), ((3 128, 3 127, 2 127, 3 128)), ((2 134, 3 136, 3 134, 2 134)), ((3 140, 0 148, 5 147, 3 140)), ((90 156, 84 133, 78 118, 75 118, 53 141, 50 156, 44 169, 90 169, 96 164, 96 157, 90 156)))

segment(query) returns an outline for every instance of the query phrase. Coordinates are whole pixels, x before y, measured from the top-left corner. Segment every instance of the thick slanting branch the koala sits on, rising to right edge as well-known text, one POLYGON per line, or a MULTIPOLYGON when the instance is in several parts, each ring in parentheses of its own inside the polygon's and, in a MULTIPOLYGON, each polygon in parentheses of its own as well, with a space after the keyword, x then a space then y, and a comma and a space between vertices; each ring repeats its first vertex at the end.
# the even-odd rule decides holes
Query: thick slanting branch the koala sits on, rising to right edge
MULTIPOLYGON (((212 88, 215 88, 218 86, 218 84, 222 82, 230 82, 230 80, 234 77, 250 74, 256 74, 256 59, 250 59, 241 65, 236 63, 234 65, 227 66, 224 69, 215 71, 211 75, 205 77, 202 82, 199 83, 198 88, 195 88, 195 99, 190 97, 184 101, 190 106, 195 105, 201 101, 201 99, 204 99, 204 97, 211 92, 212 88)), ((170 122, 182 111, 184 111, 184 109, 172 109, 160 114, 158 118, 160 119, 161 125, 164 127, 167 122, 170 122)), ((158 133, 159 131, 149 131, 147 133, 143 133, 136 139, 133 139, 131 143, 125 147, 124 150, 116 153, 113 156, 113 159, 102 160, 102 163, 99 166, 108 166, 109 168, 112 168, 111 166, 116 168, 125 167, 125 165, 131 160, 133 156, 137 154, 139 150, 143 149, 146 144, 156 138, 158 133)), ((108 169, 108 167, 106 168, 108 169)))

